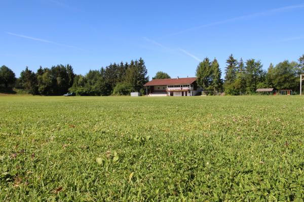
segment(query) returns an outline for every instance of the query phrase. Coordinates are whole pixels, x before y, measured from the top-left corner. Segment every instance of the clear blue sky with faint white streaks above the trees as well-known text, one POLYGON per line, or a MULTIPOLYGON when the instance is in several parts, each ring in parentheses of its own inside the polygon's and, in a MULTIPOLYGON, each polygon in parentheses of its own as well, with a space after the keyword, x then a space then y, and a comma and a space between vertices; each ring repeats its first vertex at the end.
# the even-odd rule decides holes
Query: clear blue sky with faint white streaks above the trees
POLYGON ((230 54, 263 68, 304 54, 304 1, 1 0, 0 65, 70 64, 77 74, 142 57, 153 77, 195 76, 230 54))

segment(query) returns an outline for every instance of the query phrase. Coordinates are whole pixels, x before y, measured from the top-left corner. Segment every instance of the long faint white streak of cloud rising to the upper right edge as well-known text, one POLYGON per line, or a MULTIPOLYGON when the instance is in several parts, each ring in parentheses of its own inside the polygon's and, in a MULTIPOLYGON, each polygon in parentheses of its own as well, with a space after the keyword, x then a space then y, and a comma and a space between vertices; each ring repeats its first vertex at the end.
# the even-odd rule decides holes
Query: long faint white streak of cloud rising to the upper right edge
POLYGON ((165 37, 178 35, 178 34, 181 34, 181 33, 184 33, 184 32, 188 32, 188 31, 194 31, 194 30, 197 30, 197 29, 201 29, 201 28, 205 28, 205 27, 209 27, 209 26, 213 26, 213 25, 225 24, 225 23, 234 22, 234 21, 237 21, 237 20, 260 17, 260 16, 264 16, 264 15, 271 15, 271 14, 275 14, 275 13, 279 13, 279 12, 284 12, 284 11, 293 10, 293 9, 300 9, 300 8, 304 8, 304 4, 281 7, 281 8, 271 9, 271 10, 260 12, 260 13, 244 15, 244 16, 239 16, 239 17, 235 17, 235 18, 225 19, 225 20, 220 20, 220 21, 217 21, 217 22, 212 22, 212 23, 208 23, 208 24, 205 24, 205 25, 181 30, 179 32, 175 32, 175 33, 166 35, 165 37))

